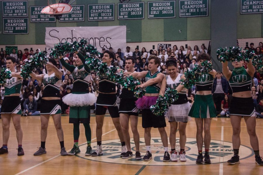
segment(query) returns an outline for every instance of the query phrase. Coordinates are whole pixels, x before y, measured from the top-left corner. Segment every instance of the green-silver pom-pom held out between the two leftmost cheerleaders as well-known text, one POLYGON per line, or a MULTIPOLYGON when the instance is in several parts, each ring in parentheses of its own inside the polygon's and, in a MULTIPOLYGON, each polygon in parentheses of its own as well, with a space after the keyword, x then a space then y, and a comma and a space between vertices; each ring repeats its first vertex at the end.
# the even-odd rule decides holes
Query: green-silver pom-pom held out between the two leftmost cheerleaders
POLYGON ((30 77, 29 74, 31 74, 35 68, 42 67, 44 64, 46 64, 49 59, 46 54, 46 51, 40 51, 39 53, 31 56, 31 60, 26 62, 25 65, 21 67, 21 77, 24 79, 30 77))

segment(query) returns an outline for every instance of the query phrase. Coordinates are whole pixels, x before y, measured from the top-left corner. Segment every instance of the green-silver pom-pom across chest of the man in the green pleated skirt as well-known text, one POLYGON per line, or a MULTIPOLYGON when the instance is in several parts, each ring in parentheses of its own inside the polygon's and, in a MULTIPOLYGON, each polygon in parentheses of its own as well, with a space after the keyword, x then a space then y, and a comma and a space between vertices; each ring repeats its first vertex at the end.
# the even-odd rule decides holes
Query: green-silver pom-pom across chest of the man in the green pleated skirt
POLYGON ((198 80, 198 78, 204 74, 209 73, 212 71, 212 64, 210 61, 203 61, 200 65, 197 65, 195 68, 193 68, 190 71, 186 71, 184 73, 185 79, 181 79, 181 84, 184 85, 186 89, 191 88, 193 85, 195 85, 195 82, 198 80))

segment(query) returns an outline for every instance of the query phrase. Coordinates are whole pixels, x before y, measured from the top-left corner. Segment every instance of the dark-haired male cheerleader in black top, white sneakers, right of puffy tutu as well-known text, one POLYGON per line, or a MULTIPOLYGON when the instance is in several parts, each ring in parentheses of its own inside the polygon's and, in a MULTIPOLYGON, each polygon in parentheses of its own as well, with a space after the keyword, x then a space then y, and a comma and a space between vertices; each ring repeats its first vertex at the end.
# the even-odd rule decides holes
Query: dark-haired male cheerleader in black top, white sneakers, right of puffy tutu
MULTIPOLYGON (((102 57, 102 62, 106 63, 108 67, 111 67, 112 60, 115 59, 115 54, 110 52, 109 50, 105 50, 102 57)), ((92 156, 98 156, 103 154, 102 150, 102 127, 103 127, 103 120, 108 109, 113 124, 118 132, 120 137, 121 145, 122 145, 122 153, 121 157, 123 157, 126 152, 127 148, 125 146, 124 136, 122 133, 122 126, 120 124, 120 115, 119 109, 117 106, 117 96, 116 96, 116 83, 110 81, 106 78, 100 77, 99 80, 99 95, 96 101, 96 137, 97 137, 97 149, 92 153, 92 156)))

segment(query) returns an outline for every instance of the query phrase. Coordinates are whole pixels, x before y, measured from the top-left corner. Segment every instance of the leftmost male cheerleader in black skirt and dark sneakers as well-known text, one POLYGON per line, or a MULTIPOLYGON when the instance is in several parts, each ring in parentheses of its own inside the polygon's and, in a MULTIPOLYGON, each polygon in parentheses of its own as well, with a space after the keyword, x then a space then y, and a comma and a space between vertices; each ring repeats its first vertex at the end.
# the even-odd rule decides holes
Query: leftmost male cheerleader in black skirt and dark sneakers
POLYGON ((23 132, 20 126, 21 105, 20 89, 22 86, 22 77, 20 72, 15 73, 15 58, 6 57, 6 67, 11 71, 12 77, 6 80, 5 97, 1 107, 2 127, 3 127, 3 146, 0 148, 0 154, 8 153, 7 142, 9 139, 10 120, 12 118, 18 141, 18 154, 24 155, 22 148, 23 132))

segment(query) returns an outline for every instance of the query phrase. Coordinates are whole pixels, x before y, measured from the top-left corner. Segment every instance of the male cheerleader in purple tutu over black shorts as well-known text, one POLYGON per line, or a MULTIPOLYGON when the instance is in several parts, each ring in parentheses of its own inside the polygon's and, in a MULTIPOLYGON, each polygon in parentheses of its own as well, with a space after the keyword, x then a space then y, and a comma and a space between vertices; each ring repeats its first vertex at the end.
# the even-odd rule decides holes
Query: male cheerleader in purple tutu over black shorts
MULTIPOLYGON (((160 116, 154 115, 151 110, 150 106, 156 104, 156 100, 159 96, 161 82, 165 77, 164 74, 158 71, 158 67, 160 66, 160 59, 155 55, 150 55, 148 58, 148 69, 149 71, 142 71, 142 72, 133 72, 132 76, 135 78, 141 79, 145 77, 145 83, 139 85, 140 88, 145 88, 146 93, 142 98, 139 98, 136 101, 136 106, 139 109, 142 109, 142 127, 144 128, 144 139, 146 144, 146 155, 143 157, 144 161, 149 161, 152 159, 152 153, 150 150, 151 144, 151 129, 152 127, 158 128, 162 144, 165 149, 165 154, 163 157, 164 162, 170 161, 170 155, 168 153, 168 139, 167 133, 165 131, 166 122, 164 114, 160 116)), ((161 95, 161 94, 160 94, 161 95)))

